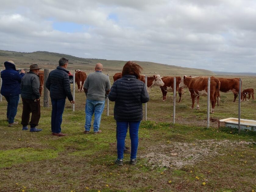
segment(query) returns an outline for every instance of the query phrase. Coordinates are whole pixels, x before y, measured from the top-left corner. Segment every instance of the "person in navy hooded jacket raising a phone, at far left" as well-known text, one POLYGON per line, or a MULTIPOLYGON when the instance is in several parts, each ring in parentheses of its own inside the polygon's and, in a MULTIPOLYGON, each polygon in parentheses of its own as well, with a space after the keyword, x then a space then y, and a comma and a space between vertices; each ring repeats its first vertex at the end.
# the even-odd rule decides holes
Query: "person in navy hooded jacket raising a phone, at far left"
POLYGON ((21 78, 25 75, 25 71, 21 70, 19 73, 13 61, 5 61, 5 70, 1 72, 2 87, 1 94, 7 101, 7 121, 9 127, 18 124, 14 122, 17 113, 17 107, 20 99, 20 82, 21 78))

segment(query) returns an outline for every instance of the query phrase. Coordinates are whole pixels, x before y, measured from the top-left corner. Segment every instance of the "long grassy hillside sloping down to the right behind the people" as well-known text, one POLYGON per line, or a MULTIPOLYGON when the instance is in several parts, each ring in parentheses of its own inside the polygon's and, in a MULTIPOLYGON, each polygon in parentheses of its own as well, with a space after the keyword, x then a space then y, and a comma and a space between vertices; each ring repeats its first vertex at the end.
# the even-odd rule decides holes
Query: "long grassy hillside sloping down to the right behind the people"
MULTIPOLYGON (((105 71, 118 72, 122 71, 127 61, 106 60, 106 59, 85 59, 74 57, 72 55, 37 51, 32 53, 13 52, 0 50, 0 68, 4 68, 4 62, 12 60, 18 68, 28 68, 31 64, 38 64, 42 68, 55 69, 61 57, 69 59, 68 69, 94 70, 95 64, 100 62, 105 71)), ((154 62, 135 61, 144 70, 146 74, 170 74, 170 75, 215 75, 212 71, 205 69, 194 69, 178 67, 154 62)))

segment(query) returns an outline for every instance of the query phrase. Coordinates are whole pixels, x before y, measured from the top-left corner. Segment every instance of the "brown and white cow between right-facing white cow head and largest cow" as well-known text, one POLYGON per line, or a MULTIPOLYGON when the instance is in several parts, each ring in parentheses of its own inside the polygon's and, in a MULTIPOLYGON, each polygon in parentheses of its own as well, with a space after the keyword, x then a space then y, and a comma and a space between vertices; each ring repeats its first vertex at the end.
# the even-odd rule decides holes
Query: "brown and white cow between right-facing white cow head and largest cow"
MULTIPOLYGON (((160 86, 160 89, 161 89, 162 94, 163 94, 163 101, 165 101, 166 100, 167 91, 173 93, 173 80, 174 80, 174 77, 164 76, 164 77, 161 77, 161 79, 164 82, 164 86, 160 86)), ((181 101, 181 95, 183 94, 183 88, 179 87, 180 82, 181 82, 181 77, 179 77, 179 76, 176 77, 176 91, 178 91, 179 96, 180 96, 179 103, 181 101)), ((177 95, 177 93, 176 93, 176 95, 177 95)))

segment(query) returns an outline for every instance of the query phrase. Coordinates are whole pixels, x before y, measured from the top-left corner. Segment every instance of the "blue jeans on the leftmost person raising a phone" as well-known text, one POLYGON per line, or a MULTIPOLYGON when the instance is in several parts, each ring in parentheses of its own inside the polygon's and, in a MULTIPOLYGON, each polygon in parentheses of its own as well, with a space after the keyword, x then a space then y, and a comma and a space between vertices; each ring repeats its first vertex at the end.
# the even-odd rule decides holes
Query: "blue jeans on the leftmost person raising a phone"
POLYGON ((17 114, 17 108, 19 104, 20 95, 4 96, 7 101, 7 112, 6 116, 9 123, 14 122, 14 118, 17 114))

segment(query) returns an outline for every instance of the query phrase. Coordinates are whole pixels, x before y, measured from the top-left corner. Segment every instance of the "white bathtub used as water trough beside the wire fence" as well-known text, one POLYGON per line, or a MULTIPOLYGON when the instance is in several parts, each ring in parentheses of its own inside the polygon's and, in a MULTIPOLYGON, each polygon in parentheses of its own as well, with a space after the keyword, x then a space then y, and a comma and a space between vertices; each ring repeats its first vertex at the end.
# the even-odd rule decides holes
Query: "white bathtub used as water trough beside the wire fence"
MULTIPOLYGON (((232 127, 238 129, 237 118, 220 119, 219 122, 225 122, 226 127, 232 127)), ((248 119, 240 119, 240 130, 251 130, 256 131, 256 121, 248 119)))

